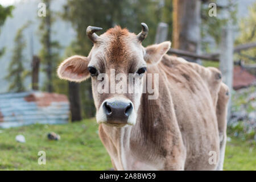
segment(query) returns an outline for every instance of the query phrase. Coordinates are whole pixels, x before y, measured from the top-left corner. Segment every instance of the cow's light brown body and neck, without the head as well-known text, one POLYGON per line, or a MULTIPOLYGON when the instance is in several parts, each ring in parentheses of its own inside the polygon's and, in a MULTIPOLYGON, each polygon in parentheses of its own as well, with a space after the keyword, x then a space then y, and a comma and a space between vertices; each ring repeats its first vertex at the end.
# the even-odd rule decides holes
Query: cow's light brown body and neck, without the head
POLYGON ((142 95, 136 125, 100 125, 114 168, 222 169, 228 88, 220 72, 167 55, 147 72, 162 73, 159 98, 142 95), (217 164, 210 164, 215 154, 217 164))

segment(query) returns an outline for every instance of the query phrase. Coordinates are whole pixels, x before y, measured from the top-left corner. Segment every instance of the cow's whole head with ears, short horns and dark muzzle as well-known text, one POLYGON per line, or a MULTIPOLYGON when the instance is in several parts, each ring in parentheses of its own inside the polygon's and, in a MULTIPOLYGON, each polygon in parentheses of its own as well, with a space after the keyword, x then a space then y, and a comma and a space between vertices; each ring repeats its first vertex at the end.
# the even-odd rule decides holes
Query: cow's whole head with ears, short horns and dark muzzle
POLYGON ((88 27, 94 43, 89 56, 69 57, 58 68, 59 77, 69 81, 92 78, 98 123, 135 125, 147 66, 158 63, 171 45, 164 42, 144 48, 141 42, 148 30, 146 24, 142 27, 139 35, 116 26, 101 36, 94 33, 95 27, 88 27))

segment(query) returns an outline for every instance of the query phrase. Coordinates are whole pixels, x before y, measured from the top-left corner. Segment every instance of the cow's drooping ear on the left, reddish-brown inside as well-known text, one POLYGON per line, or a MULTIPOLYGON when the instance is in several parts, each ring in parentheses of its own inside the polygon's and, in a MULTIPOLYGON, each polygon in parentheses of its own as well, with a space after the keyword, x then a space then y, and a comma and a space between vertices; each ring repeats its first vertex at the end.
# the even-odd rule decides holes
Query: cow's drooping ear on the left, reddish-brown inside
POLYGON ((84 81, 90 76, 88 63, 87 57, 71 56, 60 64, 57 74, 61 79, 75 82, 84 81))

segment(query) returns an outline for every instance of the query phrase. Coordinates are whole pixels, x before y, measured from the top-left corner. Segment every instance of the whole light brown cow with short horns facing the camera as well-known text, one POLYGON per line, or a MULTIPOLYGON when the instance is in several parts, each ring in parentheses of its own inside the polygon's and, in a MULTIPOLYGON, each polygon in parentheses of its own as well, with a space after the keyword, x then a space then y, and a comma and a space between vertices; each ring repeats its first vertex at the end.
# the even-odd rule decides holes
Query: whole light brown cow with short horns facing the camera
POLYGON ((229 90, 221 72, 167 55, 171 42, 143 47, 148 27, 141 25, 138 35, 115 26, 100 36, 102 28, 89 26, 89 55, 64 60, 57 75, 75 82, 91 77, 99 135, 114 169, 222 170, 229 90), (151 81, 158 82, 158 97, 149 99, 151 93, 142 91, 99 93, 104 77, 98 76, 109 76, 112 69, 139 77, 138 88, 147 75, 157 74, 151 81))

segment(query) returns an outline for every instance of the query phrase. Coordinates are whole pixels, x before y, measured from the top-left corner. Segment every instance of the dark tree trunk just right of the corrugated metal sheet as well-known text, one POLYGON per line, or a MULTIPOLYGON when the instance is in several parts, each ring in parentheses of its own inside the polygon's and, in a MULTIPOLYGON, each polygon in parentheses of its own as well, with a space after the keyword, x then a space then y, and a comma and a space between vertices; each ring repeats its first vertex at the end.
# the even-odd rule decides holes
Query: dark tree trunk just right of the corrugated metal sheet
POLYGON ((71 107, 71 121, 81 121, 80 85, 76 82, 68 82, 68 95, 71 107))

